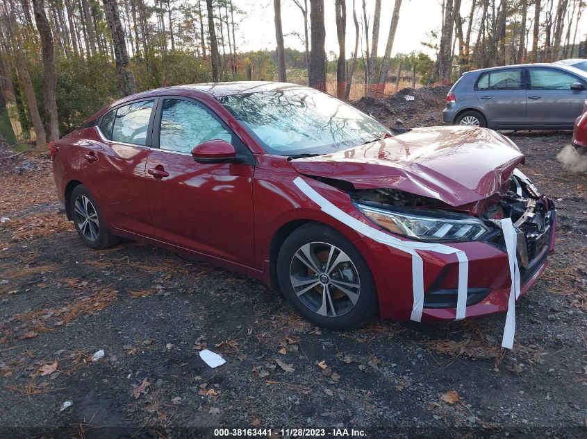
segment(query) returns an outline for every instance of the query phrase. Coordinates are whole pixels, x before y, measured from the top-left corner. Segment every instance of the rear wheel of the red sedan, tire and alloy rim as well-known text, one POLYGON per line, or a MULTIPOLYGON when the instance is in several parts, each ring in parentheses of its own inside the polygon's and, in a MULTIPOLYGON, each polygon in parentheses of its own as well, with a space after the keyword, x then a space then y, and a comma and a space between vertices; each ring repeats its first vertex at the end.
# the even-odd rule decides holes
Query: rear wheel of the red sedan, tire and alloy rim
POLYGON ((74 226, 86 246, 101 250, 119 243, 118 236, 108 232, 108 226, 96 199, 83 184, 79 184, 72 191, 69 206, 72 209, 74 226))

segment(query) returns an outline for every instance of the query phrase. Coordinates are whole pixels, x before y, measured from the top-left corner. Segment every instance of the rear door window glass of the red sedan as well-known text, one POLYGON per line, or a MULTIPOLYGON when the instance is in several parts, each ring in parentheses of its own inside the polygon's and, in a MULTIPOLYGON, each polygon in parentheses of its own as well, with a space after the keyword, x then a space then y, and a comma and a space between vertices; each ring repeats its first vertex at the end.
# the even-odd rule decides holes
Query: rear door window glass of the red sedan
POLYGON ((112 140, 124 144, 146 145, 153 103, 154 101, 140 101, 118 107, 114 119, 112 140))

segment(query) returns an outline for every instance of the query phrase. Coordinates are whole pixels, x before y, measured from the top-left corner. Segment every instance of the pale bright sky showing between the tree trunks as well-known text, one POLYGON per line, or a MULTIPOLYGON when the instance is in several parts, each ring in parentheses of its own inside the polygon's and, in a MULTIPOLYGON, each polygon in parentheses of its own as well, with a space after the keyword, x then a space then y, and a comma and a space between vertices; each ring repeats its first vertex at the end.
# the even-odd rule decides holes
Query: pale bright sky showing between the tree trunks
MULTIPOLYGON (((422 46, 422 41, 429 40, 427 33, 440 29, 442 21, 441 0, 403 0, 399 11, 399 24, 395 33, 392 55, 395 53, 409 53, 411 51, 423 51, 432 57, 436 55, 422 46)), ((303 3, 303 0, 301 0, 303 3)), ((352 17, 352 0, 347 3, 347 56, 354 50, 355 28, 352 17)), ((362 0, 355 0, 357 18, 361 26, 362 0)), ((367 0, 367 16, 370 17, 370 31, 373 19, 374 0, 367 0)), ((379 25, 379 55, 383 55, 389 33, 391 14, 395 0, 381 0, 381 23, 379 25)), ((247 16, 240 24, 240 47, 238 49, 258 50, 275 49, 275 27, 272 0, 238 0, 235 4, 244 9, 247 16)), ((470 0, 463 0, 461 13, 469 14, 470 0), (466 11, 466 12, 465 12, 466 11)), ((309 6, 309 0, 308 0, 309 6)), ((309 19, 309 17, 308 17, 309 19)), ((286 46, 303 50, 304 43, 292 32, 304 35, 304 19, 301 11, 292 0, 281 0, 281 21, 286 46)), ((324 21, 326 26, 326 54, 329 51, 338 53, 338 41, 336 39, 336 22, 334 18, 334 0, 324 0, 324 21)), ((581 18, 581 35, 584 37, 587 31, 587 14, 581 18)), ((363 44, 364 46, 364 44, 363 44)), ((359 40, 361 47, 361 40, 359 40)))

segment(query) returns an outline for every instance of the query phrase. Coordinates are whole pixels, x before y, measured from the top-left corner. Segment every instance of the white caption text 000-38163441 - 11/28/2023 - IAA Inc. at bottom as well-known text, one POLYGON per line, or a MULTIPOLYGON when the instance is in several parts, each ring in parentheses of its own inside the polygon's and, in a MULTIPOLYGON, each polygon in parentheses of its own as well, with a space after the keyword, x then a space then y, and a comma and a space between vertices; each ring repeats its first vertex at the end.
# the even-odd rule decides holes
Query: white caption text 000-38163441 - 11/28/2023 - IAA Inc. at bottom
POLYGON ((360 429, 214 429, 215 437, 302 437, 302 438, 366 438, 367 433, 360 429))

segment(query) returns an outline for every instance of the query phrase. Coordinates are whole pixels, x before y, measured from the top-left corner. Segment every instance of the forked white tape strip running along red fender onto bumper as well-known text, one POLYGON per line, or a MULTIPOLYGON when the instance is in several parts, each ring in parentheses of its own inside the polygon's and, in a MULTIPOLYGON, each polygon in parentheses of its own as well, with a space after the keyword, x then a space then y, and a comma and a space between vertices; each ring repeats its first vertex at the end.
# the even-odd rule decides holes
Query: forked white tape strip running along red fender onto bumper
POLYGON ((390 234, 381 232, 375 227, 359 221, 346 212, 326 200, 320 193, 317 193, 301 177, 294 180, 294 184, 308 196, 314 203, 320 206, 322 212, 336 218, 341 223, 351 227, 370 239, 385 244, 392 248, 397 248, 402 252, 412 255, 412 284, 413 284, 413 307, 411 320, 420 322, 422 320, 422 309, 424 308, 424 263, 422 257, 416 250, 428 250, 432 252, 443 253, 444 255, 456 255, 458 259, 458 290, 456 295, 456 316, 455 320, 465 318, 467 312, 467 288, 469 276, 469 261, 463 250, 452 248, 439 243, 420 243, 414 241, 402 241, 390 234))

